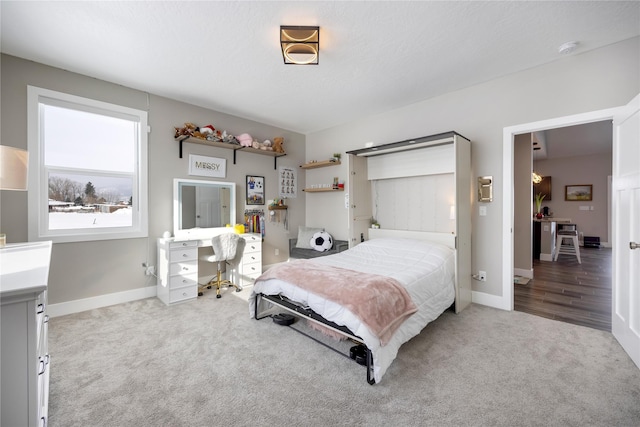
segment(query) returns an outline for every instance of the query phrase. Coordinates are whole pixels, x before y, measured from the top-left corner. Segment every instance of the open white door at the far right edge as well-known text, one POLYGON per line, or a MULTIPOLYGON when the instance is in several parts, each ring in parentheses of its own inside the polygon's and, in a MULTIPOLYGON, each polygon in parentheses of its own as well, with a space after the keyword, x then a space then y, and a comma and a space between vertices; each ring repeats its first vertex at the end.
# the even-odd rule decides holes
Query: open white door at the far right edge
POLYGON ((640 367, 640 95, 613 122, 612 332, 640 367))

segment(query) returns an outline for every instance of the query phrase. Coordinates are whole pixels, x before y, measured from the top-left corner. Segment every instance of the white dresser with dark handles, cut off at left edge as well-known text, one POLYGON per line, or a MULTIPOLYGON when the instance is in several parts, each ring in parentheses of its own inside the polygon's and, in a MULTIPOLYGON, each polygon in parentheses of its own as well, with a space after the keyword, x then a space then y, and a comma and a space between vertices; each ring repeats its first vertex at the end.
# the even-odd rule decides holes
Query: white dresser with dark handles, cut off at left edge
POLYGON ((2 426, 48 424, 51 247, 34 242, 0 249, 2 426))

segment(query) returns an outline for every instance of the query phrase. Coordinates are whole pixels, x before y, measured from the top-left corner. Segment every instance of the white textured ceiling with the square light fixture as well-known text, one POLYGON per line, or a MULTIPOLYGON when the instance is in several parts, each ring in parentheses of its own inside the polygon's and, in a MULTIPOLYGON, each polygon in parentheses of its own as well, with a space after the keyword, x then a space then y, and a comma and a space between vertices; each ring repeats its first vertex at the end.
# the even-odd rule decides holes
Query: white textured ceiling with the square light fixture
POLYGON ((3 53, 303 134, 640 35, 637 1, 0 7, 3 53), (284 65, 280 25, 320 26, 320 64, 284 65))

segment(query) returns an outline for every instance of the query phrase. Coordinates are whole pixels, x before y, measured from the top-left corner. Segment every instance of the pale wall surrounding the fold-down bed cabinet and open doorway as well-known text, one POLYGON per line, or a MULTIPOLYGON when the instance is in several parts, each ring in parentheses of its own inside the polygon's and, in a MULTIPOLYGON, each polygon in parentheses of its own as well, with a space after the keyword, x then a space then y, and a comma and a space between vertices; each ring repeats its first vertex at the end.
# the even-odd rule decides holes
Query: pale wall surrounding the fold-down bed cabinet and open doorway
MULTIPOLYGON (((493 175, 494 201, 487 215, 473 205, 472 269, 487 272, 474 291, 502 295, 502 133, 503 128, 626 104, 640 92, 640 38, 562 58, 517 74, 307 135, 307 160, 365 143, 395 142, 456 131, 472 142, 472 177, 493 175)), ((420 82, 416 82, 419 85, 420 82)), ((339 166, 341 177, 347 165, 339 166)), ((475 179, 473 180, 475 181, 475 179)), ((476 183, 473 182, 475 191, 476 183)), ((307 197, 307 223, 347 238, 347 213, 341 197, 307 197)))

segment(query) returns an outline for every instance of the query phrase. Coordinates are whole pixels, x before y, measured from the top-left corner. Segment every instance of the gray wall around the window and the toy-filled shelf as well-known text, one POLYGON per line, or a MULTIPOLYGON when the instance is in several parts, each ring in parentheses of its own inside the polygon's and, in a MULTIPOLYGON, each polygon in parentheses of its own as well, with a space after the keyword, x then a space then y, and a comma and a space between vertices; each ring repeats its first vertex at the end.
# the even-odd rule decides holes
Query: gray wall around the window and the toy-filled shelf
MULTIPOLYGON (((1 115, 2 144, 27 148, 27 85, 66 92, 100 101, 139 108, 149 112, 149 238, 109 240, 84 243, 55 244, 49 277, 49 303, 61 303, 84 298, 131 291, 155 286, 155 279, 144 275, 142 262, 156 264, 156 238, 173 229, 173 179, 198 177, 188 175, 188 154, 227 159, 227 177, 237 185, 238 222, 243 222, 245 176, 265 177, 267 199, 277 194, 277 170, 273 157, 238 153, 233 165, 231 150, 185 144, 184 156, 178 158, 178 143, 173 139, 173 127, 184 122, 198 125, 213 124, 232 134, 248 132, 258 139, 285 138, 287 155, 278 159, 280 166, 294 166, 304 162, 304 135, 242 118, 184 104, 170 99, 147 95, 123 86, 70 73, 42 64, 2 55, 1 115)), ((187 78, 187 76, 185 76, 187 78)), ((73 132, 73 129, 69 130, 73 132)), ((89 135, 88 135, 89 137, 89 135)), ((89 139, 89 138, 88 138, 89 139)), ((222 179, 221 179, 222 180, 222 179)), ((300 188, 304 186, 304 177, 300 188)), ((291 228, 304 221, 304 198, 289 199, 291 228)), ((266 211, 266 206, 265 206, 266 211)), ((265 212, 267 213, 267 212, 265 212)), ((27 193, 0 192, 0 227, 9 243, 26 241, 27 193)), ((286 260, 289 233, 280 224, 267 224, 263 260, 271 264, 286 260), (280 255, 274 255, 275 249, 280 255)))

